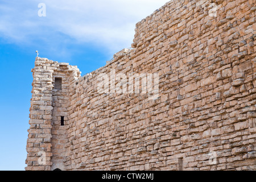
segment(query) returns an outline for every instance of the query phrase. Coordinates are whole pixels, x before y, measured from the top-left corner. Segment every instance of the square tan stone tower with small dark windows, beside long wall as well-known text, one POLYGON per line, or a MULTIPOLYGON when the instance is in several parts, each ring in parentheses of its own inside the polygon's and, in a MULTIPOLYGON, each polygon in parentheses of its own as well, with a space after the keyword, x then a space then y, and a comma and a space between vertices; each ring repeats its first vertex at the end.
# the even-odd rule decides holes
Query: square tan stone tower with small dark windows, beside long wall
POLYGON ((32 73, 26 170, 65 170, 68 83, 80 77, 80 71, 68 63, 36 57, 32 73))

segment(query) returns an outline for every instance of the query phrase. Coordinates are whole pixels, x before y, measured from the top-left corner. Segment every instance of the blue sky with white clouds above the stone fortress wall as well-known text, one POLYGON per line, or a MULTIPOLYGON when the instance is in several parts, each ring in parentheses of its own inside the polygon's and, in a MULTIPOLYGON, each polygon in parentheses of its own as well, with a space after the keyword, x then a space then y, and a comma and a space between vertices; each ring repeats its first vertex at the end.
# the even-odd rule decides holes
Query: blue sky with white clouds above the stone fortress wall
POLYGON ((84 75, 131 47, 135 24, 166 2, 0 0, 0 170, 26 167, 35 51, 84 75), (46 16, 38 16, 39 3, 46 16))

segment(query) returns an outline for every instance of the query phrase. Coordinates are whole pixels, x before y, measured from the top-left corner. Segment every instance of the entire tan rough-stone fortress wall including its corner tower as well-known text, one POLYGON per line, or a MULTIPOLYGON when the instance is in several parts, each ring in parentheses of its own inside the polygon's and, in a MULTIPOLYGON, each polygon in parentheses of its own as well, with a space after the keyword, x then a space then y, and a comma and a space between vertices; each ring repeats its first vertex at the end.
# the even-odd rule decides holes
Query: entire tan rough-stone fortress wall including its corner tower
POLYGON ((170 1, 82 77, 36 57, 26 170, 256 170, 255 5, 170 1), (98 92, 113 70, 158 73, 159 97, 98 92))

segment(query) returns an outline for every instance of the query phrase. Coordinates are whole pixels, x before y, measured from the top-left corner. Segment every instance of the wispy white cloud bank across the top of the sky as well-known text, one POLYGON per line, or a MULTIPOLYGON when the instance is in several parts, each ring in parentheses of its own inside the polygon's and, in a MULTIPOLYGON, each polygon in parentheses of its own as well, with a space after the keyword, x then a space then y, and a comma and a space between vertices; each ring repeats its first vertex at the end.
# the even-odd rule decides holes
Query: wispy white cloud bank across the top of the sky
MULTIPOLYGON (((168 0, 5 1, 0 3, 0 36, 17 44, 46 42, 56 34, 78 43, 94 43, 110 51, 130 47, 135 24, 168 0), (38 4, 46 4, 46 17, 38 4)), ((55 41, 57 46, 58 42, 55 41)))

